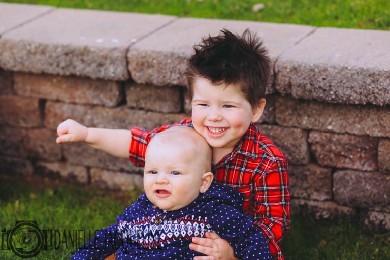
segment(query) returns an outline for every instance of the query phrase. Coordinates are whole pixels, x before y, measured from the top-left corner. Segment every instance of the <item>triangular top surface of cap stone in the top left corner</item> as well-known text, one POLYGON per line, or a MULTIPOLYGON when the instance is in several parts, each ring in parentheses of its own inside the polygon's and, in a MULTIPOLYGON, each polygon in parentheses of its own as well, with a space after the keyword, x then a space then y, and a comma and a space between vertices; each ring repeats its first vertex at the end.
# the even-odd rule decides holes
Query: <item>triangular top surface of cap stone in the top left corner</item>
POLYGON ((0 3, 0 35, 52 10, 49 6, 0 3))

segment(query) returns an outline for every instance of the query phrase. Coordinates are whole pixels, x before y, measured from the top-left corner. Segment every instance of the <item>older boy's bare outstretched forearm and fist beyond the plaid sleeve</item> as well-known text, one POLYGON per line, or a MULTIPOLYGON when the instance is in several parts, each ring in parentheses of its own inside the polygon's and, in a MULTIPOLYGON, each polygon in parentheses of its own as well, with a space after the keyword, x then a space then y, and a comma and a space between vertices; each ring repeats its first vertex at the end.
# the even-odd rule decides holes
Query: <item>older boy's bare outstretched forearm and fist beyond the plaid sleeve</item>
POLYGON ((128 158, 132 133, 125 129, 87 128, 68 119, 57 127, 57 144, 85 142, 88 145, 120 158, 128 158))

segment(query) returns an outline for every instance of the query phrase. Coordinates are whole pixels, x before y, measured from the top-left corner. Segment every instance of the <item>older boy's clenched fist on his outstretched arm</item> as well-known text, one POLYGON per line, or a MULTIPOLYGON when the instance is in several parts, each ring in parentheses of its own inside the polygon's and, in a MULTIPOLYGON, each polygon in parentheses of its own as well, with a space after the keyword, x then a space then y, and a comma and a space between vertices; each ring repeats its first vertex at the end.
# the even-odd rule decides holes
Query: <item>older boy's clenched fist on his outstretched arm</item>
POLYGON ((84 142, 88 136, 88 128, 72 119, 67 119, 58 125, 57 134, 57 144, 84 142))

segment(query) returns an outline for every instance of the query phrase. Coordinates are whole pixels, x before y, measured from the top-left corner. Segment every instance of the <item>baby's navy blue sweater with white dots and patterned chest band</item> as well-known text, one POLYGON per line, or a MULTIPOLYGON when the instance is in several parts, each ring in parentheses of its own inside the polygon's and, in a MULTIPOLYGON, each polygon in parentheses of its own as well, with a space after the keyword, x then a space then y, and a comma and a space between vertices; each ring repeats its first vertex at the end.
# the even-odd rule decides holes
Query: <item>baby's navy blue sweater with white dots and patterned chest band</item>
POLYGON ((242 195, 212 184, 188 206, 164 211, 141 195, 117 223, 96 233, 71 259, 193 259, 191 238, 216 232, 229 241, 238 259, 272 259, 268 243, 252 218, 242 212, 242 195))

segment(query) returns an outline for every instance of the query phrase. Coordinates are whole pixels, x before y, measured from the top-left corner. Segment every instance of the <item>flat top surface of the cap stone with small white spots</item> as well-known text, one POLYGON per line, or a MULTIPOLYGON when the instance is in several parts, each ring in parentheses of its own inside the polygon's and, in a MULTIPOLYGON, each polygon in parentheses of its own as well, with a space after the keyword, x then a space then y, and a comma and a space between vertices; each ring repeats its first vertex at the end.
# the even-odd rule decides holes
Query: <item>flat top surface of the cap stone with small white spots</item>
POLYGON ((128 47, 174 16, 58 8, 4 35, 47 44, 128 47))

